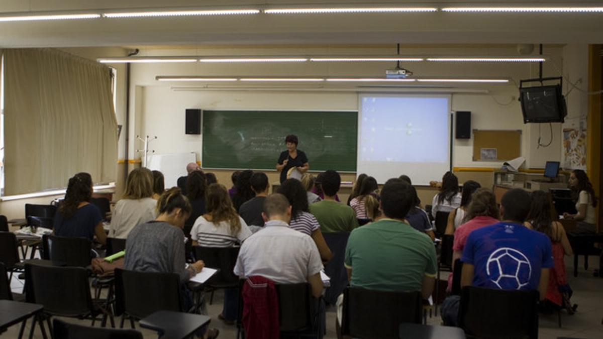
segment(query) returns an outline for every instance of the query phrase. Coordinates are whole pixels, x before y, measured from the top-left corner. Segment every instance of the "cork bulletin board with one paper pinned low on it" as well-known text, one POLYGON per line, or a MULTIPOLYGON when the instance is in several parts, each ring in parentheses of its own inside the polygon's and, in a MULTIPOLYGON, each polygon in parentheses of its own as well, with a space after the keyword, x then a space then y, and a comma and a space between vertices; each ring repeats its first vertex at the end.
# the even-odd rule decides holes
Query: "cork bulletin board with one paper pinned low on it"
POLYGON ((521 130, 473 130, 473 161, 506 161, 521 155, 521 130))

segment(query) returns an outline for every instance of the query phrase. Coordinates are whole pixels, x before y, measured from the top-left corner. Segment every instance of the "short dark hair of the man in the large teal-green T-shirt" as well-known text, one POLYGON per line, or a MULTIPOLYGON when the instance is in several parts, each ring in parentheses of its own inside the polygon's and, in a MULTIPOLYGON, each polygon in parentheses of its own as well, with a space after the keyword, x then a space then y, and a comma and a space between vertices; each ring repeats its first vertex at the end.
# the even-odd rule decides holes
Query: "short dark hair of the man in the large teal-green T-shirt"
POLYGON ((388 218, 404 219, 415 204, 416 191, 403 180, 388 180, 381 189, 381 208, 388 218))

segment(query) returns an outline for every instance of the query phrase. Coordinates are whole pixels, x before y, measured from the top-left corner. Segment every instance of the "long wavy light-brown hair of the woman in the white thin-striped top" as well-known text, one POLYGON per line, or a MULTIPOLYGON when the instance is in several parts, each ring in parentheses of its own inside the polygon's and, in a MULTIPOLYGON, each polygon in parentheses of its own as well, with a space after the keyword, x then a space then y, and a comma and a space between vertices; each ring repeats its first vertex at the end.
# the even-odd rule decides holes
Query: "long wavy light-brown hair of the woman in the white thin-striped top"
POLYGON ((232 235, 237 235, 241 231, 241 219, 230 200, 226 186, 219 183, 209 185, 206 191, 205 209, 206 214, 212 218, 213 224, 218 225, 221 221, 226 221, 230 225, 232 235))

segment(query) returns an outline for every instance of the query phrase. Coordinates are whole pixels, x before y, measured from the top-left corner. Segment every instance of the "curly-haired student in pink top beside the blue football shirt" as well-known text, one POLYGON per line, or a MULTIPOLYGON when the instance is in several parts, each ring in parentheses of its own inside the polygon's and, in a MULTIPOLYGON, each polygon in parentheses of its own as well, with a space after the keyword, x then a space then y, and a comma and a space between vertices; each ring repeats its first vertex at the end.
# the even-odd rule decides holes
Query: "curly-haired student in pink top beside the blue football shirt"
MULTIPOLYGON (((467 222, 458 227, 454 232, 452 245, 452 263, 460 259, 467 243, 467 237, 476 229, 490 226, 499 222, 500 214, 496 197, 491 189, 478 188, 473 192, 469 209, 467 209, 467 222)), ((454 267, 452 267, 454 270, 454 267)), ((448 277, 447 290, 452 290, 452 274, 448 277)))

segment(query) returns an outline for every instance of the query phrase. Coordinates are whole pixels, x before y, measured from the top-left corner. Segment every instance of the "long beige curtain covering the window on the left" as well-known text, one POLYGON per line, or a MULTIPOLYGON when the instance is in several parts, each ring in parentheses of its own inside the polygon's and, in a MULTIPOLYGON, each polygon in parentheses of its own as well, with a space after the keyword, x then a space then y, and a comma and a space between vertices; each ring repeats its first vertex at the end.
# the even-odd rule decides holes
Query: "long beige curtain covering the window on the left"
POLYGON ((55 49, 4 49, 4 195, 115 181, 110 69, 55 49))

